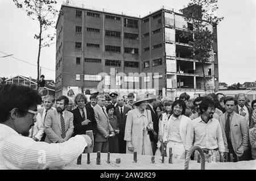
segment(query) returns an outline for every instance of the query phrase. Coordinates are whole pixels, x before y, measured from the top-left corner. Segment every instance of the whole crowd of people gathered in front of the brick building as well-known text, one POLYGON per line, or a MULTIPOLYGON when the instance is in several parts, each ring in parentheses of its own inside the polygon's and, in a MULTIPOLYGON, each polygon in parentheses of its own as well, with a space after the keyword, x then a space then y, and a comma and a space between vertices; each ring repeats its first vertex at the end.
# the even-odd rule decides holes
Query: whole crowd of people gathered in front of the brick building
MULTIPOLYGON (((172 148, 174 158, 184 159, 195 145, 218 158, 228 153, 226 161, 230 154, 234 162, 256 159, 256 100, 249 104, 245 94, 190 98, 184 92, 172 100, 153 94, 135 98, 132 92, 121 96, 86 90, 75 95, 69 90, 67 96, 42 98, 29 87, 4 85, 0 87, 0 123, 0 166, 4 168, 63 166, 88 147, 93 152, 137 151, 167 157, 172 148), (90 138, 88 131, 93 133, 90 138), (52 161, 34 163, 28 153, 36 157, 40 150, 51 155, 52 161), (22 154, 30 159, 17 158, 20 163, 15 163, 13 157, 22 154)), ((196 160, 198 154, 195 151, 191 159, 196 160)))

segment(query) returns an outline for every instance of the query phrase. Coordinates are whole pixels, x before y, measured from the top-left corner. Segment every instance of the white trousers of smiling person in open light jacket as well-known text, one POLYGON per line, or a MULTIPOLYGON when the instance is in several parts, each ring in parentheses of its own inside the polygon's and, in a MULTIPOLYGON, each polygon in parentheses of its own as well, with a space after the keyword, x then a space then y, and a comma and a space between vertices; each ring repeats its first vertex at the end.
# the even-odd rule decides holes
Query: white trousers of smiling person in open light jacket
POLYGON ((169 157, 169 148, 172 148, 172 157, 185 159, 185 148, 182 142, 168 141, 166 155, 169 157))

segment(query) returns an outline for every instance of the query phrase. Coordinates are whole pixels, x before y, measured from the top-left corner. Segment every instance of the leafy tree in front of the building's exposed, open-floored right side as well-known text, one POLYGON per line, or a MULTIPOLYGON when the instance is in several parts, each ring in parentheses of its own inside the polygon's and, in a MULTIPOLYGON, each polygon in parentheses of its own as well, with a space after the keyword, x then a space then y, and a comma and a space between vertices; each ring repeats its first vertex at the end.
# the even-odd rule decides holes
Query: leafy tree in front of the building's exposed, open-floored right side
POLYGON ((183 33, 180 35, 187 38, 189 49, 192 52, 192 58, 198 60, 201 64, 204 77, 204 90, 207 91, 204 66, 213 56, 213 45, 216 36, 208 30, 209 26, 217 26, 223 19, 218 18, 216 14, 217 0, 191 0, 187 6, 184 6, 184 19, 188 26, 183 26, 183 33), (191 39, 191 36, 193 37, 191 39))

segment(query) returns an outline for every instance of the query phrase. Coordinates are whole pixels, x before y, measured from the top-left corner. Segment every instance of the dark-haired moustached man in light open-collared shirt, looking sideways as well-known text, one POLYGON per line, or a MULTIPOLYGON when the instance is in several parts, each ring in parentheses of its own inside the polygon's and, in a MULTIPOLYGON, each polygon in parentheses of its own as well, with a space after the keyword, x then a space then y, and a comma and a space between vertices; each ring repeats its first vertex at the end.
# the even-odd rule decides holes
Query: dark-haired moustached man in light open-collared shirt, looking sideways
MULTIPOLYGON (((213 100, 204 98, 200 103, 200 117, 192 121, 194 132, 194 146, 199 146, 205 154, 220 151, 224 155, 225 146, 222 137, 222 129, 219 121, 213 118, 216 104, 213 100)), ((197 159, 199 152, 195 151, 194 159, 197 159)), ((218 159, 217 159, 218 160, 218 159)))

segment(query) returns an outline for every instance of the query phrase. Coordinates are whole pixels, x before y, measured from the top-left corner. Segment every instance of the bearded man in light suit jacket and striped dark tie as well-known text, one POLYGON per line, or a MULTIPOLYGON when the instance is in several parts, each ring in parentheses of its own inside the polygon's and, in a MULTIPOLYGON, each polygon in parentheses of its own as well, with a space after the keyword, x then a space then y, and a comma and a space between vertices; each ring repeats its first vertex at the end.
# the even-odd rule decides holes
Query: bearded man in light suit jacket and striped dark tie
POLYGON ((61 95, 56 99, 56 110, 48 111, 45 128, 46 142, 60 143, 68 141, 73 134, 73 113, 65 111, 68 106, 67 96, 61 95))

